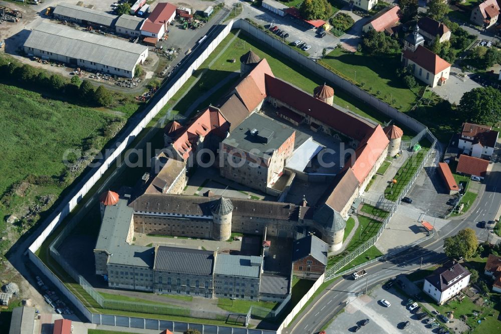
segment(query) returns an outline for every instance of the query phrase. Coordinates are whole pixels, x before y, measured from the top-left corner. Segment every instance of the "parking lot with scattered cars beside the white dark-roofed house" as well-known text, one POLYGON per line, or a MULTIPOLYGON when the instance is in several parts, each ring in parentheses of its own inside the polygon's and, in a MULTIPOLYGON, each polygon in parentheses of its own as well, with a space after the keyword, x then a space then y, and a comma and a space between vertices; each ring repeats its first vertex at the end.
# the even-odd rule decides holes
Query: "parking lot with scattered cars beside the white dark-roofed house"
MULTIPOLYGON (((394 288, 384 290, 378 286, 367 295, 358 298, 353 297, 335 320, 326 329, 327 334, 338 334, 354 332, 355 327, 360 325, 362 320, 369 319, 370 322, 361 326, 359 333, 429 333, 430 327, 425 319, 418 320, 417 315, 411 313, 406 307, 407 298, 399 295, 394 288), (385 307, 380 300, 386 299, 390 302, 390 307, 385 307), (406 321, 409 325, 404 329, 398 326, 406 321)), ((435 332, 436 330, 433 330, 435 332)))

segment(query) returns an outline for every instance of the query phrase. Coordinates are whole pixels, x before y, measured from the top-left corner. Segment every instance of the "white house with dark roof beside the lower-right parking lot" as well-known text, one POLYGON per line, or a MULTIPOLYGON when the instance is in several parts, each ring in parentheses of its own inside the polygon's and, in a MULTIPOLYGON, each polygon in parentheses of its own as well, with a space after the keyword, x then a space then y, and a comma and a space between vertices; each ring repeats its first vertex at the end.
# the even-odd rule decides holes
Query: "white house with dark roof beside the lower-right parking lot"
POLYGON ((448 261, 424 279, 423 291, 442 305, 468 285, 470 275, 456 261, 448 261))

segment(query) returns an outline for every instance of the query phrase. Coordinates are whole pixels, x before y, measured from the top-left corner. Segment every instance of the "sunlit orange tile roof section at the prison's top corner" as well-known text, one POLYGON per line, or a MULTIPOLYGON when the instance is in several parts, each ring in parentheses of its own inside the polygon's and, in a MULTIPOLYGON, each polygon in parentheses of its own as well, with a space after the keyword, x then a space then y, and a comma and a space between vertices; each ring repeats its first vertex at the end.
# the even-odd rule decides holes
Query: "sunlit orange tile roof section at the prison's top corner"
POLYGON ((265 74, 274 76, 266 59, 243 78, 235 90, 248 111, 253 111, 266 98, 265 74))

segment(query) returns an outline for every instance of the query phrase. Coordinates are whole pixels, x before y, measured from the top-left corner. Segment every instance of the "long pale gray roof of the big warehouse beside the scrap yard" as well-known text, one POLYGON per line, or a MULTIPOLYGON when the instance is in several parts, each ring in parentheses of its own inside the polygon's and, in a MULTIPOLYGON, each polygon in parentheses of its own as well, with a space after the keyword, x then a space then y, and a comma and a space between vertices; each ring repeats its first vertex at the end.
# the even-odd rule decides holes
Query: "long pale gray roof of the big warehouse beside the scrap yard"
POLYGON ((52 23, 41 23, 33 29, 24 46, 128 71, 134 70, 139 56, 148 49, 52 23))

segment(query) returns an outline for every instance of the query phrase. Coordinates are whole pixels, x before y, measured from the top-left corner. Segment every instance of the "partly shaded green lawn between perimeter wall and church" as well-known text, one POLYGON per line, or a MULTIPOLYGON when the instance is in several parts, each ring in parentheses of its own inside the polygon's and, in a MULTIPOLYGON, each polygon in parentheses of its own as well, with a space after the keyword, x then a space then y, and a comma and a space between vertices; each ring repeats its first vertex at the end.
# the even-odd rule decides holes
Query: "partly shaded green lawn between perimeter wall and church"
POLYGON ((360 52, 348 53, 336 48, 324 58, 324 62, 352 80, 360 84, 364 82, 362 88, 370 93, 376 94, 379 90, 378 97, 400 111, 408 110, 416 100, 417 95, 407 88, 395 72, 400 66, 400 55, 383 58, 360 52), (392 99, 395 99, 393 103, 392 99))

